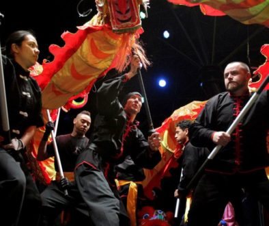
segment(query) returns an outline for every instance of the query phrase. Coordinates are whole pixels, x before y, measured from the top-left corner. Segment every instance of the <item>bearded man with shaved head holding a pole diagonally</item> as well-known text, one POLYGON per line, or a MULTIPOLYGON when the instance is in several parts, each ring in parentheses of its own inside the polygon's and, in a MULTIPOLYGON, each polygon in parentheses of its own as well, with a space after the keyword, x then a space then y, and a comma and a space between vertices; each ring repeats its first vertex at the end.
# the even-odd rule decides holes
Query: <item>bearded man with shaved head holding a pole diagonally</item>
MULTIPOLYGON (((199 180, 188 214, 188 225, 218 225, 225 206, 238 197, 242 188, 269 209, 269 181, 265 168, 269 164, 266 137, 269 128, 269 90, 244 116, 231 136, 225 131, 249 101, 249 66, 231 62, 224 71, 227 92, 210 99, 190 127, 190 142, 199 147, 221 145, 223 149, 208 162, 199 180), (210 215, 210 216, 209 216, 210 215), (208 216, 208 217, 206 217, 208 216)), ((234 203, 232 203, 234 204, 234 203)), ((233 205, 240 224, 240 207, 233 205)))

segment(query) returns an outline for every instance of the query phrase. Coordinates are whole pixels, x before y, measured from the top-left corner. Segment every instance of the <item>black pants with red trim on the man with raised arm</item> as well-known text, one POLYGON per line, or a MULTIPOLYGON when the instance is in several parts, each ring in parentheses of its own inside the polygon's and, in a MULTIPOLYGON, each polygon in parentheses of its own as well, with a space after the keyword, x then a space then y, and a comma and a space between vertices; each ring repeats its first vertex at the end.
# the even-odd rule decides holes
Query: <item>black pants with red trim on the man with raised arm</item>
POLYGON ((102 158, 91 149, 83 151, 74 171, 76 184, 89 209, 91 225, 128 226, 128 214, 116 187, 104 177, 102 158))

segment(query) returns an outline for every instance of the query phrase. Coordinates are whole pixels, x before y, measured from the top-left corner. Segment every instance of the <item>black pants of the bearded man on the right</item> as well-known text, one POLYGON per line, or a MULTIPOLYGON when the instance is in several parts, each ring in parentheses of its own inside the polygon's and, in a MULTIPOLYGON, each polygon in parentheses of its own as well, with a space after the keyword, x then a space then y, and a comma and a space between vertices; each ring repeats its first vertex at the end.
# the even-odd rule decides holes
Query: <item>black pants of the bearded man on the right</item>
POLYGON ((236 221, 242 225, 242 188, 268 210, 269 180, 264 170, 236 175, 206 173, 195 188, 188 226, 218 225, 228 201, 233 205, 236 221))

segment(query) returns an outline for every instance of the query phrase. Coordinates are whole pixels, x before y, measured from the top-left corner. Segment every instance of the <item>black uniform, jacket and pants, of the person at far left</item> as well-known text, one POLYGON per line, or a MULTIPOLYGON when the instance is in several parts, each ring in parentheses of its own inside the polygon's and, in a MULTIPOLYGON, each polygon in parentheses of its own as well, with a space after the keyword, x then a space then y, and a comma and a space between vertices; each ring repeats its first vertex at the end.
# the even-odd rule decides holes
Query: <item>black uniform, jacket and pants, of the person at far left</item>
MULTIPOLYGON (((41 90, 35 79, 19 64, 3 57, 5 92, 11 138, 21 138, 27 127, 44 125, 41 90)), ((3 141, 0 131, 0 141, 3 141), (1 139, 2 138, 2 139, 1 139)), ((41 199, 38 188, 23 158, 23 150, 0 148, 1 225, 37 225, 41 199)))

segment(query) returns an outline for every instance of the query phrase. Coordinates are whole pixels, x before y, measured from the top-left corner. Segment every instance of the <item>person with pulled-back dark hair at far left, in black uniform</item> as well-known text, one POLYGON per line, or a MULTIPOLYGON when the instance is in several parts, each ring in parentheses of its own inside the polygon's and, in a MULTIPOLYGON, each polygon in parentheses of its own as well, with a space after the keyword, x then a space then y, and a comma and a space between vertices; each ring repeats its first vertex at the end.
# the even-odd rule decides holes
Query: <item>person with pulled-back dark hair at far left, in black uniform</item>
POLYGON ((32 32, 16 31, 6 40, 3 53, 12 140, 4 145, 6 137, 0 131, 1 225, 38 225, 40 194, 22 155, 36 128, 44 125, 41 91, 29 71, 38 60, 38 42, 32 32))

